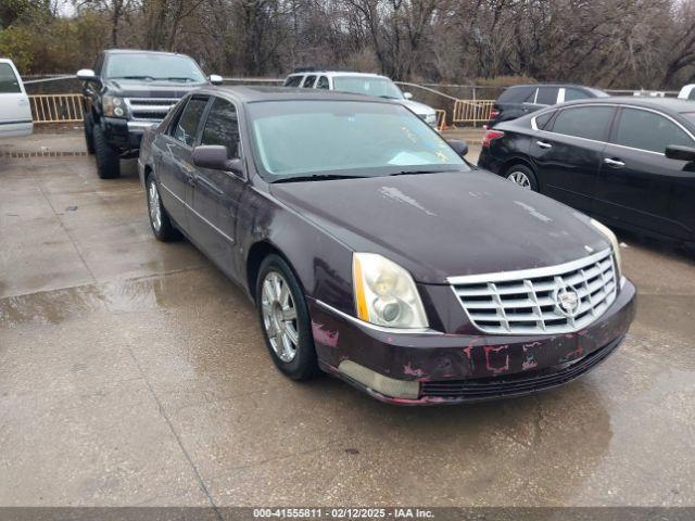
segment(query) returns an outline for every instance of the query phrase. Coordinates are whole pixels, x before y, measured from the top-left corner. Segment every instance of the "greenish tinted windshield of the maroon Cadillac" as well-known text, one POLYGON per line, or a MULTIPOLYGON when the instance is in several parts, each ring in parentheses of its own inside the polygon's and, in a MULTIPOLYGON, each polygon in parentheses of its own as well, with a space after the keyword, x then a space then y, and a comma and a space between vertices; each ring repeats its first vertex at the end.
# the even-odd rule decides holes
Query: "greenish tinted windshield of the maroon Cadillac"
POLYGON ((249 114, 256 156, 273 180, 470 169, 437 131, 399 104, 268 101, 251 103, 249 114))

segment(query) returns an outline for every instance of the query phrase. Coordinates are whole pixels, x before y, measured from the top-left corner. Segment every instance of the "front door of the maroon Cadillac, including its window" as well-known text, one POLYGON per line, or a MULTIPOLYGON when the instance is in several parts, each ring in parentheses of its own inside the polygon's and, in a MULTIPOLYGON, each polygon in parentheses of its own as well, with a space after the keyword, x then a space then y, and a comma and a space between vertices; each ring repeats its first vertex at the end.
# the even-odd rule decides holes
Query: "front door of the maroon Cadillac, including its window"
MULTIPOLYGON (((201 134, 200 144, 227 148, 229 158, 241 157, 239 118, 236 105, 214 98, 201 134)), ((195 167, 191 232, 200 246, 233 277, 237 211, 245 179, 231 171, 195 167)))

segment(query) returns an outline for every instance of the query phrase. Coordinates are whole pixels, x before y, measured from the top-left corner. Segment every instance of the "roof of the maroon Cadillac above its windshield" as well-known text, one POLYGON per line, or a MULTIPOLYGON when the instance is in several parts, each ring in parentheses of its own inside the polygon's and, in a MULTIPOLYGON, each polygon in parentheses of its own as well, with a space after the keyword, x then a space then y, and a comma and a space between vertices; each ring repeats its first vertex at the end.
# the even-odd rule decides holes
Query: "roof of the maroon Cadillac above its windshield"
POLYGON ((291 101, 291 100, 315 100, 315 101, 369 101, 379 103, 397 104, 382 98, 352 92, 340 92, 326 89, 301 89, 290 87, 266 87, 266 86, 219 86, 204 87, 195 92, 211 94, 231 94, 242 103, 253 103, 258 101, 291 101))

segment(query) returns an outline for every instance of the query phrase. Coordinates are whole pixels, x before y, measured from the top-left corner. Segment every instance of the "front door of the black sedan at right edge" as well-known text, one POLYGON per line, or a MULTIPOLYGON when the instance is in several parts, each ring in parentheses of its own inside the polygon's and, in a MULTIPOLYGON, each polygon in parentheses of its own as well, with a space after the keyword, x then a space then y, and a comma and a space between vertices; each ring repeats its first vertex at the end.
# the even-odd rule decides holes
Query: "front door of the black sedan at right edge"
POLYGON ((623 106, 607 144, 596 186, 596 213, 615 224, 692 240, 695 174, 664 154, 671 144, 695 147, 670 116, 623 106))

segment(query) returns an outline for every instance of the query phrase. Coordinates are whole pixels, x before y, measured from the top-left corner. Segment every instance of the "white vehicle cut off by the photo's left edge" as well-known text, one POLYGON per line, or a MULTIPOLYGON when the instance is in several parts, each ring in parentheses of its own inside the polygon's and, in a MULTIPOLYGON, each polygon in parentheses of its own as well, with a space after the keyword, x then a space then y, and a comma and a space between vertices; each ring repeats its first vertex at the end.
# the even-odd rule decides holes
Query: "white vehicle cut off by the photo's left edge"
POLYGON ((29 97, 12 60, 0 58, 0 138, 34 131, 29 97))

